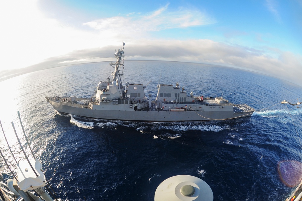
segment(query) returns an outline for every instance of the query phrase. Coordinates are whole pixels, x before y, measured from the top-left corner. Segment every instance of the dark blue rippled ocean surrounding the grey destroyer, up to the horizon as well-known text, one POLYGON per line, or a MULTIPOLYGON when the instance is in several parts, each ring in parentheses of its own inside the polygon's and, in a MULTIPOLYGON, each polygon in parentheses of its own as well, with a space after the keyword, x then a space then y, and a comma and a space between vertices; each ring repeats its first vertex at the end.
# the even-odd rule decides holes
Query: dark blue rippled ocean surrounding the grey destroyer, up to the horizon
MULTIPOLYGON (((197 63, 125 61, 123 83, 185 86, 256 109, 251 117, 205 122, 140 123, 59 115, 45 96, 89 98, 114 69, 108 62, 41 70, 0 82, 0 119, 18 160, 30 155, 17 111, 44 173, 60 200, 154 200, 168 177, 188 174, 209 184, 214 200, 283 200, 301 176, 302 88, 260 73, 197 63), (160 77, 160 81, 159 81, 160 77), (223 94, 223 95, 222 95, 223 94)), ((0 133, 1 151, 14 165, 0 133)), ((0 171, 11 173, 0 159, 0 171)), ((15 169, 15 168, 13 168, 15 169)))

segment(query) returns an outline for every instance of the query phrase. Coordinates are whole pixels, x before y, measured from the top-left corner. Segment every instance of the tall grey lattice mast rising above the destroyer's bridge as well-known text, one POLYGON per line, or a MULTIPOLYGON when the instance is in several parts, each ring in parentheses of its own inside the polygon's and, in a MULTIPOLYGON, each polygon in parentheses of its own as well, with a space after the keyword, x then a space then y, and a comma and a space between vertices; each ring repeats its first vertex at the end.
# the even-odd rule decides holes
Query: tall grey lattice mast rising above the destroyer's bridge
POLYGON ((123 83, 122 79, 120 76, 123 74, 120 74, 120 66, 124 65, 124 47, 125 47, 125 42, 123 42, 123 49, 118 49, 117 52, 114 54, 116 58, 116 62, 113 63, 112 61, 110 62, 110 66, 114 68, 114 72, 111 73, 113 76, 112 80, 116 80, 118 82, 118 86, 120 89, 123 88, 123 83))

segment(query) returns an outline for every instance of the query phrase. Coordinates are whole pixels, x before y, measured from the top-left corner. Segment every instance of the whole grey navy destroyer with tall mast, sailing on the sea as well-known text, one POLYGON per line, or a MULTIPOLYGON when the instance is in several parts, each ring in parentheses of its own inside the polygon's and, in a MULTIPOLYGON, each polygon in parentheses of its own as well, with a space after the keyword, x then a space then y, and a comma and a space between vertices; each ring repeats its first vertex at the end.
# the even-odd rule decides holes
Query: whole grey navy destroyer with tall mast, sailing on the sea
POLYGON ((116 62, 106 81, 101 81, 91 98, 45 97, 59 113, 88 118, 139 122, 178 122, 226 120, 251 116, 255 109, 246 104, 232 104, 221 97, 205 98, 189 95, 184 87, 158 84, 157 96, 145 95, 143 84, 122 83, 120 68, 124 66, 124 46, 114 54, 116 62))

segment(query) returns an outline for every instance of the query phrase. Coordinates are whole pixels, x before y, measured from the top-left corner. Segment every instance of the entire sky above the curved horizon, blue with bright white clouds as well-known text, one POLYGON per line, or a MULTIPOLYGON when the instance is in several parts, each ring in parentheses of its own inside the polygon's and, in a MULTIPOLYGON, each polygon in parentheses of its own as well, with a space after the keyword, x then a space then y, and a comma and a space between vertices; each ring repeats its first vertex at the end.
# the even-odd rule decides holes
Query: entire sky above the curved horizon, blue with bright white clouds
POLYGON ((125 60, 214 63, 302 86, 302 0, 0 4, 0 71, 112 60, 126 41, 125 60))

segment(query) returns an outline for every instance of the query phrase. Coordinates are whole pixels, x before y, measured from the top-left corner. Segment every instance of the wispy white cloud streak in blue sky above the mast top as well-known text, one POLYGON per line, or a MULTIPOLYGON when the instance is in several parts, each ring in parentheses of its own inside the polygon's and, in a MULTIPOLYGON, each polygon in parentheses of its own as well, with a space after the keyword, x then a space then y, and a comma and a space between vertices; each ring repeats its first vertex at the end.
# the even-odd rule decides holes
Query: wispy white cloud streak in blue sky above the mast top
POLYGON ((214 24, 216 21, 198 10, 179 8, 177 11, 168 11, 168 5, 146 15, 127 15, 126 17, 102 18, 84 23, 99 31, 122 32, 126 37, 140 37, 143 32, 160 31, 171 28, 186 28, 214 24), (130 17, 131 16, 131 17, 130 17))

